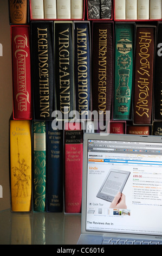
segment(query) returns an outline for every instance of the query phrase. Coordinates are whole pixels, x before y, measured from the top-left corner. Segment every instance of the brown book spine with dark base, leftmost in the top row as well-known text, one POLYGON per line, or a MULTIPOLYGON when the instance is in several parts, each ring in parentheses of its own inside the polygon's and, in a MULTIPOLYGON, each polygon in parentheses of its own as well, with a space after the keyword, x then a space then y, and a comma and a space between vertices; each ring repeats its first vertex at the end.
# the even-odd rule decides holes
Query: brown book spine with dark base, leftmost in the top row
POLYGON ((28 1, 9 0, 10 22, 12 24, 25 24, 28 22, 28 1))

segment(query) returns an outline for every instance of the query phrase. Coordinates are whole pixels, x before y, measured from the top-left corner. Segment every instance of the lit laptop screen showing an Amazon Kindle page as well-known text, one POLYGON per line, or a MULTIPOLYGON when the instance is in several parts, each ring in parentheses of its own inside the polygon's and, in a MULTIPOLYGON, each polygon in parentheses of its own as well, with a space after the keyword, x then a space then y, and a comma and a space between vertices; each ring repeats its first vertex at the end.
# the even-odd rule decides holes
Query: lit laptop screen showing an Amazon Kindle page
POLYGON ((86 230, 162 235, 161 143, 88 140, 86 230))

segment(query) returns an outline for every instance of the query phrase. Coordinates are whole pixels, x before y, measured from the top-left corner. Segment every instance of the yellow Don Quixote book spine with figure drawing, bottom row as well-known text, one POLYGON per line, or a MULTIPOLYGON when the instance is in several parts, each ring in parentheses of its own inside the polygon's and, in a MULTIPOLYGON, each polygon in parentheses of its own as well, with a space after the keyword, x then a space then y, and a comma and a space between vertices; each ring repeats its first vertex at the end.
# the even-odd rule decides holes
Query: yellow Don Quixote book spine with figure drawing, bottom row
POLYGON ((31 129, 29 120, 10 120, 12 211, 31 211, 31 129))

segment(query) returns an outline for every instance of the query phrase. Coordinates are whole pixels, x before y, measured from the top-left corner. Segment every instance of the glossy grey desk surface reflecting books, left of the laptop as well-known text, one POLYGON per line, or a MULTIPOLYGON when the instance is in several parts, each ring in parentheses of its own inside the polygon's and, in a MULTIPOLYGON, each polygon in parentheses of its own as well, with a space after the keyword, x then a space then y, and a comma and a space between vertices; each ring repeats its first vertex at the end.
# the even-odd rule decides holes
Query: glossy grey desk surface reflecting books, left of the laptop
POLYGON ((76 245, 81 215, 0 212, 0 245, 76 245))

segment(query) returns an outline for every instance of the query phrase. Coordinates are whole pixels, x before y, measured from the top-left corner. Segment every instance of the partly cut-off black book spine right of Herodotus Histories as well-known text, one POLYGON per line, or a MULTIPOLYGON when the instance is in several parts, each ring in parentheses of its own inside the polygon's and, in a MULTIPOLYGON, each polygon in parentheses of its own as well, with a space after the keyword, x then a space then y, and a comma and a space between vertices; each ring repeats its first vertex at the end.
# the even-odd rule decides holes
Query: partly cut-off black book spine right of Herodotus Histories
POLYGON ((162 119, 162 22, 157 26, 157 42, 154 72, 154 119, 162 119))

